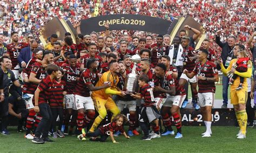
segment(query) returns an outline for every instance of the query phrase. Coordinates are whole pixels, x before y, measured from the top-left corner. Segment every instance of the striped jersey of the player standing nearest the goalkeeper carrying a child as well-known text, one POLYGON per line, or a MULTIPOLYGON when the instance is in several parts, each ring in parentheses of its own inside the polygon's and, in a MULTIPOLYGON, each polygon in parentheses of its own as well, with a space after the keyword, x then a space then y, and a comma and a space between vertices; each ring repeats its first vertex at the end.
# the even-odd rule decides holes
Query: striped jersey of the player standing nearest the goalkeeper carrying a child
MULTIPOLYGON (((201 62, 197 62, 193 73, 206 78, 213 78, 218 75, 218 70, 215 64, 207 60, 204 65, 201 65, 201 62)), ((215 82, 198 80, 198 93, 215 93, 215 82)))

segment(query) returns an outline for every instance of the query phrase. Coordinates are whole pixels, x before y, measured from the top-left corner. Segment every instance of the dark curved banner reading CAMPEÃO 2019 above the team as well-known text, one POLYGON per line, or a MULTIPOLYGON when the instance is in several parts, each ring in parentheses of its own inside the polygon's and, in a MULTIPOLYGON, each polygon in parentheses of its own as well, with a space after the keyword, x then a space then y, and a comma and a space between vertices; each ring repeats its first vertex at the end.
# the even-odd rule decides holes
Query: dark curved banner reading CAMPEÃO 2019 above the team
POLYGON ((107 15, 81 20, 80 29, 82 34, 105 31, 104 24, 109 23, 110 30, 137 30, 170 34, 177 22, 177 19, 171 22, 170 20, 142 15, 107 15))

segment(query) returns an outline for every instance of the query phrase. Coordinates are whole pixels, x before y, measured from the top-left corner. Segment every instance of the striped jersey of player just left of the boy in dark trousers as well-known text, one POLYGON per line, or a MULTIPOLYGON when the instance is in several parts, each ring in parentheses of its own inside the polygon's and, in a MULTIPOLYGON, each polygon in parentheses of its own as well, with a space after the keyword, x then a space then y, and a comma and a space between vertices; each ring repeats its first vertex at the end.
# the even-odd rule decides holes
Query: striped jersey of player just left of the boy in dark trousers
MULTIPOLYGON (((42 80, 46 77, 46 70, 45 67, 42 66, 41 63, 39 62, 35 62, 31 65, 28 75, 30 77, 30 74, 34 73, 36 74, 36 78, 38 80, 42 80)), ((35 94, 36 88, 37 88, 38 84, 35 84, 33 82, 29 82, 28 84, 25 84, 23 87, 23 92, 24 93, 28 93, 28 94, 35 94)))

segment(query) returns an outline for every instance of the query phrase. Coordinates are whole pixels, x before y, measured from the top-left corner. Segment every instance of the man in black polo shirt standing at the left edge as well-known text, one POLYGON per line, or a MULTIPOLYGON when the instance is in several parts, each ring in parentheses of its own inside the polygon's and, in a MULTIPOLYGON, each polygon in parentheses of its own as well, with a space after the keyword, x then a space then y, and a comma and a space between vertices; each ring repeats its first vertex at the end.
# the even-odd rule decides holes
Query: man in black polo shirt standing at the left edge
MULTIPOLYGON (((2 118, 1 131, 3 135, 9 135, 7 128, 8 123, 8 101, 9 101, 9 86, 11 81, 17 87, 21 87, 21 84, 15 79, 14 73, 11 71, 11 60, 7 56, 0 58, 1 68, 0 73, 3 76, 3 93, 4 100, 0 103, 0 117, 2 118)), ((1 96, 2 97, 2 96, 1 96)))

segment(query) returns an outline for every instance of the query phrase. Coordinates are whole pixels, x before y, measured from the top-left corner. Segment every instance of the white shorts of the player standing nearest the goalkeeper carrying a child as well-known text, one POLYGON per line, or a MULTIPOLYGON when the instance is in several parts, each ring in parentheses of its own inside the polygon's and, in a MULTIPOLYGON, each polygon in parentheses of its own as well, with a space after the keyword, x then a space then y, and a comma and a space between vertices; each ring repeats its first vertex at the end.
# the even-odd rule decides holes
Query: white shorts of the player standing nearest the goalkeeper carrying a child
POLYGON ((198 105, 200 107, 213 106, 215 93, 198 93, 198 105))

